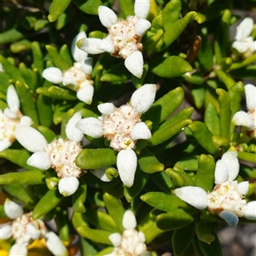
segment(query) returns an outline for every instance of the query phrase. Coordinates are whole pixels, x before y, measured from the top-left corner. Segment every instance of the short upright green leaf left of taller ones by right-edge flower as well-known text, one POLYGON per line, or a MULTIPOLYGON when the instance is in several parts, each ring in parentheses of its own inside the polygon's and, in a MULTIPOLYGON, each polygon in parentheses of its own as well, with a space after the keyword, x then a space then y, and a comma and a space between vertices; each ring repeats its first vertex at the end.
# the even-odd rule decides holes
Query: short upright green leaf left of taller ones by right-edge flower
POLYGON ((214 135, 220 134, 219 115, 212 102, 209 102, 205 111, 205 124, 214 135))

